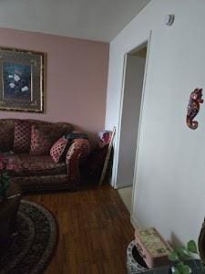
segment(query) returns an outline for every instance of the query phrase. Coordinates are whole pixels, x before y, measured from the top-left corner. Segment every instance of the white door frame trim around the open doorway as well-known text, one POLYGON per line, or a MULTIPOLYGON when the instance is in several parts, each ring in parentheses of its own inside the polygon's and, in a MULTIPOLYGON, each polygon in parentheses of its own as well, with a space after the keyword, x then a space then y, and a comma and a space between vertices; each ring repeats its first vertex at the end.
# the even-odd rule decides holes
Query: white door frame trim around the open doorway
POLYGON ((137 161, 138 161, 138 142, 139 142, 139 136, 140 136, 140 127, 141 127, 141 117, 143 112, 143 103, 144 103, 144 93, 145 93, 145 86, 146 86, 146 80, 147 80, 147 73, 148 73, 148 64, 149 64, 149 50, 150 50, 150 42, 151 42, 151 34, 152 31, 149 32, 149 37, 142 41, 141 43, 138 43, 137 47, 133 47, 133 49, 129 50, 124 55, 124 64, 123 64, 123 73, 122 73, 122 85, 121 85, 121 95, 120 95, 120 109, 119 109, 119 116, 118 116, 118 133, 116 134, 116 142, 115 142, 115 157, 114 157, 114 163, 113 163, 113 177, 112 177, 112 185, 115 189, 118 189, 118 182, 117 182, 117 174, 118 174, 118 153, 119 153, 119 141, 120 141, 120 132, 121 132, 121 119, 122 119, 122 112, 123 112, 123 100, 124 100, 124 88, 125 88, 125 78, 126 78, 126 68, 127 68, 127 58, 128 54, 130 54, 133 50, 140 48, 141 45, 147 43, 147 56, 146 56, 146 64, 145 64, 145 72, 144 72, 144 79, 143 79, 143 88, 142 88, 142 94, 141 94, 141 107, 140 107, 140 113, 139 113, 139 121, 138 121, 138 140, 137 140, 137 150, 136 150, 136 160, 135 160, 135 173, 133 177, 133 191, 132 191, 132 203, 131 203, 131 213, 133 211, 133 197, 134 192, 136 188, 136 170, 137 170, 137 161))

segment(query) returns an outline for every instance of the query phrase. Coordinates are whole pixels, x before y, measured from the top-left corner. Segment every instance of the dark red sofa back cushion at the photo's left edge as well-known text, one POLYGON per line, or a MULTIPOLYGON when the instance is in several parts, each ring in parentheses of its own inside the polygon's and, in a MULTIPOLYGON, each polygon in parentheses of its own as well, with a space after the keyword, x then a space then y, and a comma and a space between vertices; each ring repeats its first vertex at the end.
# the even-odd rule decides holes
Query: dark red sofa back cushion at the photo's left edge
POLYGON ((14 145, 14 124, 0 121, 0 152, 8 152, 14 145))

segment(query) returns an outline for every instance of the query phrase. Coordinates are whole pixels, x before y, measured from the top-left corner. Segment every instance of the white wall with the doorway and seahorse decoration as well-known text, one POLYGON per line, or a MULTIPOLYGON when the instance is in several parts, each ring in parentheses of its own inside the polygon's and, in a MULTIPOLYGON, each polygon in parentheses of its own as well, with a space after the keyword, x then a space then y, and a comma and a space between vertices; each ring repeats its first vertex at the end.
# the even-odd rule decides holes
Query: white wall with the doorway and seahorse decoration
MULTIPOLYGON (((133 217, 181 241, 197 239, 205 213, 205 103, 199 129, 185 121, 190 91, 205 90, 204 26, 204 0, 152 0, 110 47, 107 128, 118 125, 123 56, 152 29, 133 217), (163 25, 167 14, 176 16, 173 26, 163 25)), ((115 152, 113 183, 118 142, 115 152)))

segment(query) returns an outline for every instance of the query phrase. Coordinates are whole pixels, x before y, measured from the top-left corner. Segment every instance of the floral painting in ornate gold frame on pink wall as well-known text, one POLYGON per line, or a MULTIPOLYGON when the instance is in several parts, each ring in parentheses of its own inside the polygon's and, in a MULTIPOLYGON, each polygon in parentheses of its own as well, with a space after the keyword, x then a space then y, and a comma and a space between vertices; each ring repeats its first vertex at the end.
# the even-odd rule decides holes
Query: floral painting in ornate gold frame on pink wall
POLYGON ((0 47, 0 111, 45 111, 46 53, 0 47))

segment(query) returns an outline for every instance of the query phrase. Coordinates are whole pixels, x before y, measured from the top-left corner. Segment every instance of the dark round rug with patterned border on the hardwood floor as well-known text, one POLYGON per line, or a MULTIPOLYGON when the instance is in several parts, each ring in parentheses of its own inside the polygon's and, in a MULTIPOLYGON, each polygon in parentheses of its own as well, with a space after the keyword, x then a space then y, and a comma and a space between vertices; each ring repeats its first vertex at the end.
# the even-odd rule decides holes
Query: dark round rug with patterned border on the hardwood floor
POLYGON ((17 234, 0 258, 0 273, 43 273, 56 250, 55 217, 43 205, 22 200, 15 224, 17 234))

